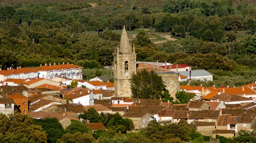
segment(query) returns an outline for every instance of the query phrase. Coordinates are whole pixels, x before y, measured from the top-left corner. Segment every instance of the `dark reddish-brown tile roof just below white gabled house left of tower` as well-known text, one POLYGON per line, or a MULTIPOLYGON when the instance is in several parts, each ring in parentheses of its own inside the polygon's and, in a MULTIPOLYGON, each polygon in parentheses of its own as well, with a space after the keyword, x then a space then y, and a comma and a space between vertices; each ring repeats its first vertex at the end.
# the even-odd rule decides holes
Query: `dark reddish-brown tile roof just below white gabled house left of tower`
POLYGON ((67 112, 73 112, 73 113, 84 113, 85 112, 84 106, 78 105, 78 104, 63 104, 63 105, 54 105, 54 106, 56 106, 62 110, 67 108, 67 112))

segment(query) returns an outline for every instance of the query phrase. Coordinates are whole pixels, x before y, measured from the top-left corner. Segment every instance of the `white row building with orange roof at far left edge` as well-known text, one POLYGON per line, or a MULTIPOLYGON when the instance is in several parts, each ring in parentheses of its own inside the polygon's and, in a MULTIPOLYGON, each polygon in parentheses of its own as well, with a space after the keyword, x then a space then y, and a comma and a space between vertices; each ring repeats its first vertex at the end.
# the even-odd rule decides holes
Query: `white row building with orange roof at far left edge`
POLYGON ((0 70, 0 81, 6 79, 33 79, 38 77, 38 71, 32 68, 17 69, 7 67, 7 70, 0 70))

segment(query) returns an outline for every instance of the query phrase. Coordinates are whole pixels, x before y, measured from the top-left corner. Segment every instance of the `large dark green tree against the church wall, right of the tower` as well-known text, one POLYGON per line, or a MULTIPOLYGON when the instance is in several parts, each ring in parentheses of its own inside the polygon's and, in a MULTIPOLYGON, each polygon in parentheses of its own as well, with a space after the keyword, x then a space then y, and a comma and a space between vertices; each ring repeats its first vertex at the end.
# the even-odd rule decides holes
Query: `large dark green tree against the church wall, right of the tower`
POLYGON ((133 98, 159 99, 166 91, 162 77, 146 69, 137 72, 136 75, 132 74, 130 83, 133 98))

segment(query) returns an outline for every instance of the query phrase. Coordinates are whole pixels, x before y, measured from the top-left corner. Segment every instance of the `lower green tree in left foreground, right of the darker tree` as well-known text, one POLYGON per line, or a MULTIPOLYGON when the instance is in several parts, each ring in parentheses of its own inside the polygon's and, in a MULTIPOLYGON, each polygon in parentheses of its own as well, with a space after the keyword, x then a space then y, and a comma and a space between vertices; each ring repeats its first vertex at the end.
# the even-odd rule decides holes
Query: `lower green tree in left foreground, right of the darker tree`
POLYGON ((77 132, 80 132, 81 134, 85 134, 91 131, 91 129, 87 127, 86 123, 81 123, 76 120, 71 120, 71 124, 66 128, 66 130, 71 134, 75 134, 77 132))

